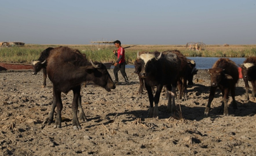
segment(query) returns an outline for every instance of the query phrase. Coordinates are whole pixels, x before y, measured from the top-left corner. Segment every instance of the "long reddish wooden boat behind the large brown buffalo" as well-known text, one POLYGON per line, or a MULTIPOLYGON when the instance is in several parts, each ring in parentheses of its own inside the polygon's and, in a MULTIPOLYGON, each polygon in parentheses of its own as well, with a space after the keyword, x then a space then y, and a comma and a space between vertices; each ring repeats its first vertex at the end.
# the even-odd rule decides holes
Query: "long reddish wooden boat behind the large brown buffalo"
MULTIPOLYGON (((113 62, 104 62, 103 64, 110 69, 113 62)), ((32 70, 32 64, 25 63, 0 63, 0 71, 2 70, 32 70)))

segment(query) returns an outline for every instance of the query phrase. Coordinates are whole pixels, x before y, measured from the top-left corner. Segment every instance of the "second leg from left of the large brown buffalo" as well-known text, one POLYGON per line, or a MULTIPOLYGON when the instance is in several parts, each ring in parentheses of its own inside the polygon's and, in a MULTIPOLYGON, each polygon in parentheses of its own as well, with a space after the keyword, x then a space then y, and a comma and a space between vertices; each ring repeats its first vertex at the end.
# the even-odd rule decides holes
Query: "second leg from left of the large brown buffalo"
POLYGON ((54 128, 61 128, 61 110, 63 108, 62 101, 61 101, 61 91, 54 88, 53 94, 55 94, 56 96, 56 112, 57 112, 54 128))

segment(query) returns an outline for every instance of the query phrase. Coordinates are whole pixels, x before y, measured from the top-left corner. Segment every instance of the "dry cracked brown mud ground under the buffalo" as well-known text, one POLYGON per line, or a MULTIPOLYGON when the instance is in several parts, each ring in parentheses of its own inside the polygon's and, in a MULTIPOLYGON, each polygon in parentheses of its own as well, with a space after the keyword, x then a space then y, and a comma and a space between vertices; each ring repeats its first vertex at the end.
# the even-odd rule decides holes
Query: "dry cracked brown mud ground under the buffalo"
MULTIPOLYGON (((73 93, 62 93, 62 127, 44 125, 52 107, 52 83, 43 73, 0 73, 0 155, 255 155, 256 99, 244 100, 244 82, 236 87, 237 110, 219 113, 222 95, 216 90, 209 116, 204 116, 210 76, 199 70, 189 99, 176 101, 182 114, 166 114, 161 93, 159 118, 146 118, 147 92, 138 94, 139 79, 127 68, 130 83, 111 92, 89 83, 82 87, 82 107, 88 118, 82 129, 72 126, 73 93), (182 115, 182 119, 181 119, 182 115)), ((113 69, 109 70, 112 78, 113 69)), ((119 73, 120 81, 124 82, 119 73)), ((251 86, 251 85, 250 85, 251 86)), ((251 88, 250 88, 251 89, 251 88)))

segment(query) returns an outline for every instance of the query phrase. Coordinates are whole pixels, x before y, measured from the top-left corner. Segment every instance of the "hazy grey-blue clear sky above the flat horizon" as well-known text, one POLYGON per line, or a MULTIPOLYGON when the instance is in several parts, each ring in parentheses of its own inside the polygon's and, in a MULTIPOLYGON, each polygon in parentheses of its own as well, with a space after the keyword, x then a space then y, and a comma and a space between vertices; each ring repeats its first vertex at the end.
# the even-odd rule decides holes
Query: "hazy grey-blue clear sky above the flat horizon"
POLYGON ((255 0, 0 0, 0 42, 256 44, 255 0))

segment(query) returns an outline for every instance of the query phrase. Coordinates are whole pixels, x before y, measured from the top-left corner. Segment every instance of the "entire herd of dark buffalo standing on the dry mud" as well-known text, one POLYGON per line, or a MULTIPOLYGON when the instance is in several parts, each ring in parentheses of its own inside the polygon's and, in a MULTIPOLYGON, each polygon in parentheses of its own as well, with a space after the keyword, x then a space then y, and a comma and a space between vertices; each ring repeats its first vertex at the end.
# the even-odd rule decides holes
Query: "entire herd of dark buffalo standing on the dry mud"
MULTIPOLYGON (((94 82, 96 85, 103 87, 108 92, 115 89, 116 85, 111 79, 106 66, 103 63, 92 62, 87 60, 86 55, 80 51, 69 47, 49 47, 45 49, 38 60, 32 61, 33 72, 36 74, 43 69, 43 85, 46 86, 47 75, 53 83, 53 100, 52 109, 44 124, 51 124, 54 120, 54 111, 56 108, 56 119, 54 128, 61 127, 61 110, 63 104, 61 101, 61 92, 67 94, 73 90, 74 98, 72 102, 74 129, 81 129, 78 121, 77 112, 79 109, 80 119, 87 120, 81 106, 81 84, 86 81, 94 82)), ((252 97, 256 93, 256 57, 247 58, 243 64, 242 75, 246 87, 246 100, 249 99, 248 81, 252 83, 252 97)), ((197 74, 195 62, 187 59, 180 51, 163 51, 163 52, 138 52, 137 59, 134 62, 135 72, 139 76, 140 87, 139 93, 142 93, 143 86, 146 88, 149 97, 149 118, 158 117, 158 103, 162 88, 166 89, 166 99, 168 99, 167 113, 176 112, 175 97, 176 88, 179 90, 179 99, 188 99, 187 96, 187 81, 188 85, 193 84, 193 75, 197 74), (154 88, 156 87, 156 91, 154 88), (153 95, 155 92, 155 95, 153 95), (155 103, 155 106, 153 106, 155 103)), ((208 104, 206 105, 204 114, 208 115, 213 101, 215 90, 217 87, 222 91, 222 108, 224 116, 228 116, 228 94, 231 93, 233 99, 233 109, 237 109, 235 101, 235 85, 239 79, 238 67, 235 62, 228 58, 220 58, 213 64, 213 67, 207 72, 211 75, 211 87, 208 104)))

